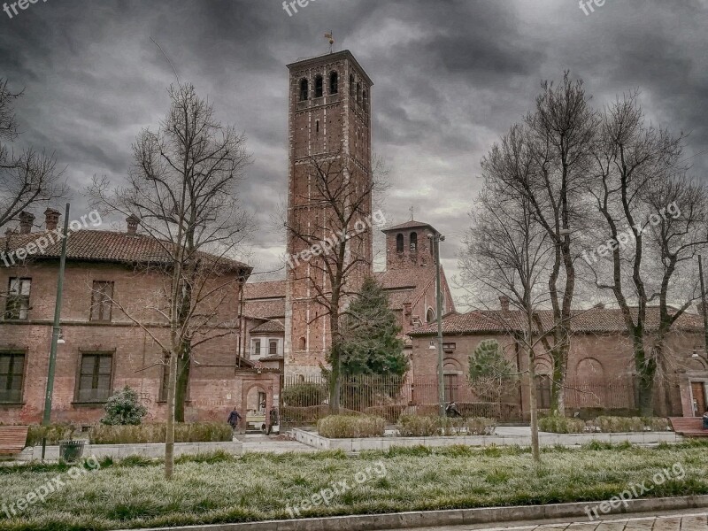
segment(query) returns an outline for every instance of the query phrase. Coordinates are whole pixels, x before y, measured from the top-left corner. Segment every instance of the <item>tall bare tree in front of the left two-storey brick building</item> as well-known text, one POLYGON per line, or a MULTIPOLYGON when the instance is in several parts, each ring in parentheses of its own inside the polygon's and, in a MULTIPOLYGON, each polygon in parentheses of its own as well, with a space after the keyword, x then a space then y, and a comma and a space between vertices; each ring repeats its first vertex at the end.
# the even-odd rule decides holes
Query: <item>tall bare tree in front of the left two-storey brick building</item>
MULTIPOLYGON (((152 308, 169 323, 169 342, 153 339, 168 355, 165 477, 173 474, 174 421, 184 420, 192 352, 203 342, 233 334, 237 322, 223 322, 224 307, 237 306, 238 290, 250 268, 235 251, 250 227, 238 208, 238 184, 249 164, 245 136, 222 126, 212 104, 192 85, 172 86, 170 111, 157 132, 143 130, 133 146, 135 163, 125 187, 95 180, 97 203, 140 220, 158 242, 148 271, 164 279, 152 308)), ((141 319, 137 326, 149 331, 141 319)))

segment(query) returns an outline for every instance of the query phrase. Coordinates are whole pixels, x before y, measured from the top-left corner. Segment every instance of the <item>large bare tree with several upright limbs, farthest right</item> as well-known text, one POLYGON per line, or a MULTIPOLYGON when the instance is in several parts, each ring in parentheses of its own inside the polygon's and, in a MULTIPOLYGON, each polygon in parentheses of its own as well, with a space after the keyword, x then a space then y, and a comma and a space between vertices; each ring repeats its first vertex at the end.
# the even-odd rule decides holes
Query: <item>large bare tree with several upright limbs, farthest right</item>
POLYGON ((623 96, 605 109, 588 189, 602 227, 597 242, 606 243, 583 257, 596 286, 611 290, 620 306, 632 341, 639 406, 651 415, 666 334, 697 296, 694 281, 681 308, 670 311, 670 297, 679 296, 673 289, 677 272, 706 243, 706 196, 704 187, 682 178, 682 135, 645 125, 637 96, 623 96), (673 206, 676 212, 667 212, 673 206), (654 300, 659 323, 652 332, 647 309, 654 300))

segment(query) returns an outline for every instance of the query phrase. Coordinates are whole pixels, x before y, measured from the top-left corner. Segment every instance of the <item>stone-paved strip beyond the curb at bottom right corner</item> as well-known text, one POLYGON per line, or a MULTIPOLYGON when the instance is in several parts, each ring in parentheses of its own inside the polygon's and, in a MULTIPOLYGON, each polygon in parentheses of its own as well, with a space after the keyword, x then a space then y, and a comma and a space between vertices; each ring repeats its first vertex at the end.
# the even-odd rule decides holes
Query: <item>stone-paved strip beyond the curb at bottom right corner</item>
POLYGON ((516 522, 510 524, 420 527, 417 531, 472 531, 486 529, 487 531, 706 531, 708 530, 708 512, 701 510, 662 512, 661 515, 612 517, 595 522, 585 521, 563 522, 516 522))

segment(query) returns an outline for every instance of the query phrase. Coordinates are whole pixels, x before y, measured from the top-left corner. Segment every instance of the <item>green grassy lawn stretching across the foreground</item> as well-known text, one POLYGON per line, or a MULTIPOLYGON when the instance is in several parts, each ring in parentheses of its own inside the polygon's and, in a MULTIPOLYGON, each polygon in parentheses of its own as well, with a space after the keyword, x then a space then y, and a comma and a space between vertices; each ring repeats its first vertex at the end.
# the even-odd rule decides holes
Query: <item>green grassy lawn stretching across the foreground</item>
MULTIPOLYGON (((248 454, 190 459, 175 479, 162 464, 139 459, 104 462, 95 472, 68 479, 58 466, 0 467, 0 506, 9 506, 59 475, 65 486, 36 502, 21 517, 0 509, 0 530, 86 530, 512 504, 601 501, 631 483, 651 484, 662 469, 685 473, 653 485, 647 496, 708 494, 708 444, 656 449, 600 444, 582 450, 550 449, 535 466, 527 450, 450 447, 365 452, 248 454), (385 471, 384 471, 385 469, 385 471), (358 475, 357 475, 358 474, 358 475), (360 480, 358 482, 358 480, 360 480), (346 488, 341 481, 347 481, 346 488), (304 500, 338 485, 329 504, 303 510, 304 500)), ((668 474, 667 474, 668 475, 668 474)), ((327 491, 326 495, 329 496, 327 491)), ((315 497, 315 502, 318 498, 315 497)))

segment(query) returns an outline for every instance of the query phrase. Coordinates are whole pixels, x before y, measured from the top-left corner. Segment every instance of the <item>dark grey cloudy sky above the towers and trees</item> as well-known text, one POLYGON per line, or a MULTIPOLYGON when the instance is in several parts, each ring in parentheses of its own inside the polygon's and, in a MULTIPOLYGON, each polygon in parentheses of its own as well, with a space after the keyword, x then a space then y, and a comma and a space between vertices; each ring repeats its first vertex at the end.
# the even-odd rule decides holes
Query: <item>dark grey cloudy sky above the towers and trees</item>
POLYGON ((374 82, 389 225, 410 219, 413 206, 415 219, 447 236, 452 277, 481 157, 532 108, 540 82, 566 69, 596 105, 641 89, 654 123, 690 132, 686 156, 697 154, 692 171, 704 178, 708 0, 593 9, 575 0, 311 0, 289 16, 281 0, 39 0, 12 19, 0 12, 0 77, 25 89, 19 143, 56 151, 73 212, 85 212, 91 177, 123 180, 135 135, 168 108, 173 71, 153 37, 181 81, 248 136, 254 164, 242 205, 258 222, 248 261, 266 271, 284 252, 272 216, 287 183, 285 65, 326 52, 331 29, 335 50, 351 50, 374 82))

